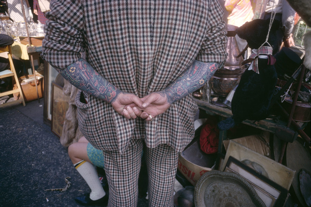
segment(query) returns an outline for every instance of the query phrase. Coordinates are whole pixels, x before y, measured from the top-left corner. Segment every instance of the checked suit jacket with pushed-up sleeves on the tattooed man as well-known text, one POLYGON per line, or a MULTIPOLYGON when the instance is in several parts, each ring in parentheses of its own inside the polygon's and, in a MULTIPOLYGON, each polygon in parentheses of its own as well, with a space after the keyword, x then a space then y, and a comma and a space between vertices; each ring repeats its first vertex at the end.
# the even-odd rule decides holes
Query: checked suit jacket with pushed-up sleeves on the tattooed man
MULTIPOLYGON (((217 0, 52 0, 42 57, 65 68, 86 60, 110 83, 144 97, 163 90, 194 59, 224 62, 226 30, 217 0)), ((79 128, 100 150, 123 152, 130 139, 147 147, 167 144, 177 151, 194 137, 197 105, 191 95, 152 122, 126 119, 107 102, 76 97, 79 128)))

